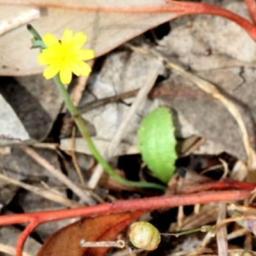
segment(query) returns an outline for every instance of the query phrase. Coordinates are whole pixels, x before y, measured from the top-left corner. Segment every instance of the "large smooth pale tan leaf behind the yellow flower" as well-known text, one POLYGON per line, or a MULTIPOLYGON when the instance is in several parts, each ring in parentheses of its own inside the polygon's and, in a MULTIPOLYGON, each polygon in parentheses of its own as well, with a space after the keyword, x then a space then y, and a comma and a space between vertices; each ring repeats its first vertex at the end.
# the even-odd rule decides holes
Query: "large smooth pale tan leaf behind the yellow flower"
MULTIPOLYGON (((40 19, 31 22, 41 35, 52 33, 61 38, 65 29, 75 33, 83 31, 88 36, 86 48, 100 56, 118 45, 177 17, 177 13, 141 13, 136 8, 159 8, 167 6, 164 0, 150 1, 13 1, 1 0, 0 6, 40 8, 40 19), (109 9, 110 8, 110 9, 109 9), (118 12, 119 10, 119 12, 118 12), (121 12, 126 10, 126 12, 121 12), (58 20, 58 22, 56 22, 58 20)), ((44 67, 36 60, 38 49, 29 50, 31 35, 26 26, 1 35, 1 76, 26 76, 40 74, 44 67), (18 40, 19 38, 19 40, 18 40)))

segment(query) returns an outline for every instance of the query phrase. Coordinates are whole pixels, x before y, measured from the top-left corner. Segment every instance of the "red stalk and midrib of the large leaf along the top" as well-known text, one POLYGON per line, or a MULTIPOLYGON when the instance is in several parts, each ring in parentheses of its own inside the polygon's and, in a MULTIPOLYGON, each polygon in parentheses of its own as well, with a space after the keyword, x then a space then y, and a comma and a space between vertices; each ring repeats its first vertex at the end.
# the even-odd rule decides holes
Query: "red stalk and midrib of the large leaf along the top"
MULTIPOLYGON (((209 14, 209 15, 218 15, 221 17, 225 17, 226 19, 232 20, 237 23, 237 25, 241 26, 251 37, 256 41, 256 27, 255 24, 256 19, 256 4, 255 0, 244 0, 248 6, 249 13, 252 17, 253 24, 243 17, 237 15, 234 12, 230 12, 225 8, 221 8, 219 6, 213 4, 206 3, 192 3, 192 2, 182 2, 182 1, 173 1, 167 0, 169 4, 162 4, 161 6, 145 6, 145 7, 133 7, 133 8, 125 8, 125 7, 109 7, 109 6, 89 6, 84 5, 83 3, 76 3, 72 5, 68 4, 54 4, 54 3, 40 3, 39 1, 36 3, 23 3, 21 2, 18 5, 21 6, 36 6, 41 8, 66 8, 68 10, 83 10, 86 12, 113 12, 113 13, 173 13, 172 19, 175 19, 184 15, 196 15, 196 14, 209 14)), ((17 1, 8 1, 2 2, 0 1, 0 5, 17 5, 17 1)), ((118 5, 117 5, 118 6, 118 5)))

